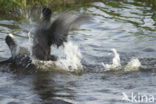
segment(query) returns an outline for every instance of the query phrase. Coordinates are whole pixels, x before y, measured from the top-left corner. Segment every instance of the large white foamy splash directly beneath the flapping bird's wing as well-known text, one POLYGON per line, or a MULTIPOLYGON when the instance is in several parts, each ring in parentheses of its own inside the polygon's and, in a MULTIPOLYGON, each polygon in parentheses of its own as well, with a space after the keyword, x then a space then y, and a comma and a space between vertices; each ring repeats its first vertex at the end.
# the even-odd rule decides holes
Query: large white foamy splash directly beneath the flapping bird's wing
MULTIPOLYGON (((54 50, 53 50, 54 51, 54 50)), ((81 72, 83 66, 81 64, 81 52, 78 46, 74 45, 72 42, 67 42, 64 44, 63 54, 58 56, 58 61, 38 61, 33 62, 42 70, 59 70, 59 71, 69 71, 69 72, 81 72)))

